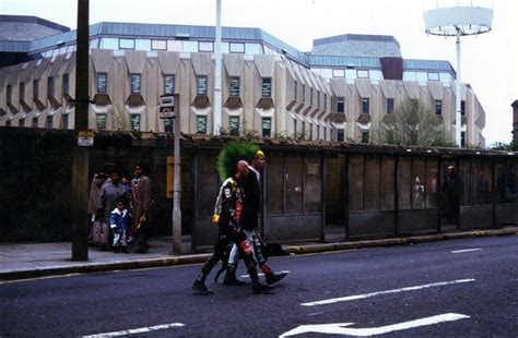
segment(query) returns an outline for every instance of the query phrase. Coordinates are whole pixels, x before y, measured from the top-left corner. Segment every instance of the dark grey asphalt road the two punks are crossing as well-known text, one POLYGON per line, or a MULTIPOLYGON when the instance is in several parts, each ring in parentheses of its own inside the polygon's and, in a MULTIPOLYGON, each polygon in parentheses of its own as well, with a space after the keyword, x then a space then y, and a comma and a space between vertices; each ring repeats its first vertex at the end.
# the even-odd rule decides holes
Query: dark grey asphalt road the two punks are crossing
POLYGON ((270 263, 274 294, 193 294, 200 265, 2 282, 0 336, 518 337, 517 236, 270 263))

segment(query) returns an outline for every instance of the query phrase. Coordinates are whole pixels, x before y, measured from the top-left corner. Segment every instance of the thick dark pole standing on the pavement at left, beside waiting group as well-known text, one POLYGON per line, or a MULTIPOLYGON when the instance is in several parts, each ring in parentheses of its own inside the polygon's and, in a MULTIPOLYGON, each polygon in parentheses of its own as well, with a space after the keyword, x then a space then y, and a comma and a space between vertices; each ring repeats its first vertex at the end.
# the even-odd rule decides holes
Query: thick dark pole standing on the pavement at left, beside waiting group
MULTIPOLYGON (((89 130, 89 0, 78 0, 74 133, 89 130)), ((72 164, 72 261, 89 261, 89 149, 74 146, 72 164)))

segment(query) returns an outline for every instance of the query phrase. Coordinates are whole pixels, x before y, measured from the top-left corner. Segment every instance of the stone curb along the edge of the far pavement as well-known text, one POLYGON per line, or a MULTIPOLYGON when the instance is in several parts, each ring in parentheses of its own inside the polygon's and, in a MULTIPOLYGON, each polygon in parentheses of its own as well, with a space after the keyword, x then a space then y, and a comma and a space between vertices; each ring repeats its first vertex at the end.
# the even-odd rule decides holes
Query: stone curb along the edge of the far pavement
MULTIPOLYGON (((466 238, 492 237, 492 236, 514 236, 518 234, 518 227, 492 229, 492 230, 473 230, 464 232, 450 232, 437 234, 413 236, 405 238, 390 238, 364 240, 355 242, 338 242, 338 243, 306 243, 299 245, 281 245, 282 255, 304 255, 322 252, 357 250, 375 246, 393 246, 409 245, 415 243, 437 242, 444 240, 457 240, 466 238)), ((0 280, 22 280, 46 276, 63 276, 70 274, 92 274, 113 270, 128 270, 153 267, 166 267, 176 265, 201 264, 211 256, 210 253, 189 254, 184 256, 160 257, 150 259, 139 259, 132 262, 109 262, 109 263, 89 263, 78 262, 71 263, 69 266, 49 266, 35 269, 15 269, 11 271, 0 273, 0 280)))

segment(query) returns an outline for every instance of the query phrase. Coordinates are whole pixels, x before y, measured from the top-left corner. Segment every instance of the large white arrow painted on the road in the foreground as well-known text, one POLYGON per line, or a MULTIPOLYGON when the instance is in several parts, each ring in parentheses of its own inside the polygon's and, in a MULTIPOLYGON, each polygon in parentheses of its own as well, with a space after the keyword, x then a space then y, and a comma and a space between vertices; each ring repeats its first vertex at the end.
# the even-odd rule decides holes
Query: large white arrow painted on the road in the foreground
POLYGON ((382 335, 387 333, 426 326, 435 325, 445 322, 454 322, 459 319, 466 319, 470 316, 458 314, 458 313, 445 313, 432 317, 404 322, 400 324, 393 324, 388 326, 380 327, 370 327, 370 328, 350 328, 346 326, 353 325, 354 323, 334 323, 334 324, 319 324, 319 325, 301 325, 297 328, 294 328, 285 334, 282 337, 296 336, 307 333, 319 333, 319 334, 330 334, 330 335, 342 335, 342 336, 355 336, 355 337, 366 337, 382 335))

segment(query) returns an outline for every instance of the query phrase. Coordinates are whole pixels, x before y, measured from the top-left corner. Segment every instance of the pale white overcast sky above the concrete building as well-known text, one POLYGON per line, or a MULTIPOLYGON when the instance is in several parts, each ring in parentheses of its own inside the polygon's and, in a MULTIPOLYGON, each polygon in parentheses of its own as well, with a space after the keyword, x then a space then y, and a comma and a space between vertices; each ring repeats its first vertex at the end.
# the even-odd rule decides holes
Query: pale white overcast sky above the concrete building
MULTIPOLYGON (((461 39, 461 81, 486 113, 486 145, 510 142, 518 99, 516 0, 437 0, 493 7, 493 31, 461 39)), ((215 0, 90 0, 90 22, 215 25, 215 0)), ((223 26, 258 27, 301 51, 313 39, 339 34, 393 35, 405 59, 448 60, 455 38, 426 36, 423 11, 436 0, 222 0, 223 26)), ((1 14, 35 15, 76 27, 75 0, 0 0, 1 14)))

